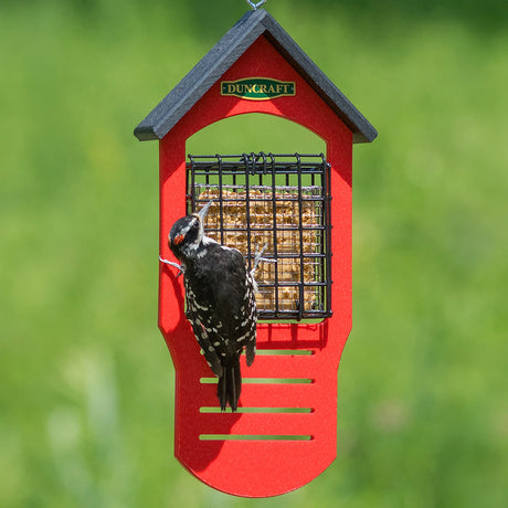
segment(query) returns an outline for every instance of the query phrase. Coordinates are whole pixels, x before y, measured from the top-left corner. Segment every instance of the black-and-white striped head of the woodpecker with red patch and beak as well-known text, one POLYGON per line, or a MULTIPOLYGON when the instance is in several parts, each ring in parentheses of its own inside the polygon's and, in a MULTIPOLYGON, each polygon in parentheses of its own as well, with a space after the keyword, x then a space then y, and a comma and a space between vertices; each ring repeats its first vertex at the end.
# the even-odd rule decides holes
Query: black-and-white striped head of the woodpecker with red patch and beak
POLYGON ((192 257, 203 241, 203 221, 212 204, 209 201, 199 212, 179 219, 168 236, 169 248, 178 260, 192 257))

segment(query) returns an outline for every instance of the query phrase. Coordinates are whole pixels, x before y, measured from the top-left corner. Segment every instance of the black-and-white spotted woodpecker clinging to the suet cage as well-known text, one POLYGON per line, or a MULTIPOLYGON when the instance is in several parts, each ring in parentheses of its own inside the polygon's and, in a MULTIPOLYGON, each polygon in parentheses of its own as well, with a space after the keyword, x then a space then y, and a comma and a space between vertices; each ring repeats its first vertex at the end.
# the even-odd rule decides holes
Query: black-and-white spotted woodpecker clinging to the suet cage
POLYGON ((248 367, 256 354, 255 268, 247 271, 240 251, 204 234, 203 220, 211 203, 179 219, 168 243, 181 263, 187 319, 207 363, 219 378, 221 411, 227 403, 236 411, 242 388, 240 354, 245 348, 248 367))

